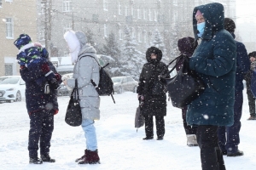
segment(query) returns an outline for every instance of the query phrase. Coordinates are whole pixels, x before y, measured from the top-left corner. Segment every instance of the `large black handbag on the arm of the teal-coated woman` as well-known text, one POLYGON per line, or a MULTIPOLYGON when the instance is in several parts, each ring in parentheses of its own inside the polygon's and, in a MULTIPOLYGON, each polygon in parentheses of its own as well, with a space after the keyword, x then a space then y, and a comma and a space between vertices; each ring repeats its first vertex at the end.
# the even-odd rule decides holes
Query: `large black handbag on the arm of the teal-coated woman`
POLYGON ((189 70, 188 56, 178 56, 176 59, 173 59, 167 67, 175 60, 177 60, 177 64, 171 71, 168 71, 166 75, 170 75, 170 73, 176 69, 177 65, 183 60, 183 65, 177 72, 177 75, 171 78, 166 78, 166 75, 164 75, 160 76, 160 78, 164 78, 166 81, 166 88, 169 97, 172 100, 172 105, 177 108, 183 108, 204 92, 205 84, 202 82, 201 78, 196 75, 195 71, 189 70))

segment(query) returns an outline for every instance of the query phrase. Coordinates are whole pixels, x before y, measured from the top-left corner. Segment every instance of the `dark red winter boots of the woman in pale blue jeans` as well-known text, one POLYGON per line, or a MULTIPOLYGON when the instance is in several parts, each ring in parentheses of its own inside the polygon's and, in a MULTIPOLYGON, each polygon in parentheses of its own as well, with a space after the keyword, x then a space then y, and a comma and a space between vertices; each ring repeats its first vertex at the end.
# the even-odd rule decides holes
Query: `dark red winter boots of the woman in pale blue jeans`
POLYGON ((100 164, 100 157, 98 156, 98 150, 91 151, 85 150, 84 159, 79 161, 79 164, 100 164))

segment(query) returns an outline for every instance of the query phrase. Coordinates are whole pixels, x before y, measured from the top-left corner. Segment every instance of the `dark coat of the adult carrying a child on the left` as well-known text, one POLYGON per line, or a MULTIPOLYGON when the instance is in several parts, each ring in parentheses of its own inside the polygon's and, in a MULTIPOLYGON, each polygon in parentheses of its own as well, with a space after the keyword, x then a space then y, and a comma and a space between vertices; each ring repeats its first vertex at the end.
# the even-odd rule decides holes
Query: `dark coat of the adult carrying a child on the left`
MULTIPOLYGON (((49 67, 51 71, 57 72, 50 61, 49 67)), ((56 90, 50 87, 50 93, 44 94, 44 84, 47 80, 41 72, 40 65, 33 71, 28 70, 26 67, 20 69, 20 76, 26 82, 26 109, 28 113, 40 110, 59 110, 56 90), (38 86, 38 82, 43 85, 38 86)))

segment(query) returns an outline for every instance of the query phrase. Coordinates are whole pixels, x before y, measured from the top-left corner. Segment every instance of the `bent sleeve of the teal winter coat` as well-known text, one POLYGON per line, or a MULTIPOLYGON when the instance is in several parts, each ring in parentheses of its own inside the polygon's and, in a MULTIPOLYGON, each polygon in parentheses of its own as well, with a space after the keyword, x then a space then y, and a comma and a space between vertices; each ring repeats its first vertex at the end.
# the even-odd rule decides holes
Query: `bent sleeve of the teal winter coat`
POLYGON ((236 62, 236 42, 233 37, 227 37, 225 35, 216 37, 214 44, 205 42, 198 48, 201 48, 200 52, 195 51, 189 60, 189 68, 212 77, 221 77, 230 72, 233 65, 236 62), (202 48, 202 45, 207 45, 206 48, 202 48), (211 46, 214 47, 211 47, 211 46), (213 50, 213 58, 208 58, 208 50, 213 50), (204 51, 202 51, 204 50, 204 51))

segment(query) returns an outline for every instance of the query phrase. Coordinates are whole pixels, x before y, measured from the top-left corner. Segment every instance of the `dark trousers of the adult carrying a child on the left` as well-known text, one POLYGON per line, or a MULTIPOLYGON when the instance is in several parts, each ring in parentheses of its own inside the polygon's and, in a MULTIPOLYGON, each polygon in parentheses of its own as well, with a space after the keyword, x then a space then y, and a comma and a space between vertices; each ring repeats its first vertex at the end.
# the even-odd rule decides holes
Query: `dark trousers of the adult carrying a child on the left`
POLYGON ((38 157, 38 143, 40 141, 40 154, 49 153, 50 139, 54 130, 53 111, 32 112, 30 117, 30 130, 28 136, 28 150, 30 157, 38 157))

